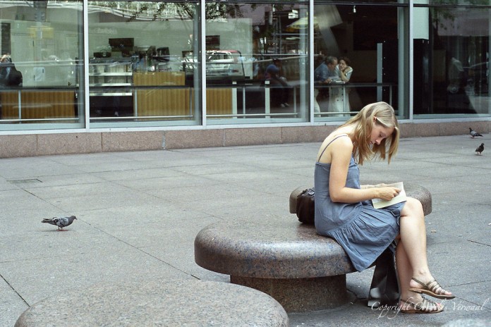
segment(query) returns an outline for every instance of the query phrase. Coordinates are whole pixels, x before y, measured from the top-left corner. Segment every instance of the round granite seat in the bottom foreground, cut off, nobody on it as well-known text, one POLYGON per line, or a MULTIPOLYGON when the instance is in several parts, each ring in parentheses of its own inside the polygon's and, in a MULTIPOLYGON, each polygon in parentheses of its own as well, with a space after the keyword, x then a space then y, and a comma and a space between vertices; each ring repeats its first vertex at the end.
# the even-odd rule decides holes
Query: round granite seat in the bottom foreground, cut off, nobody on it
POLYGON ((289 326, 286 311, 263 292, 203 280, 93 285, 37 302, 15 327, 289 326))

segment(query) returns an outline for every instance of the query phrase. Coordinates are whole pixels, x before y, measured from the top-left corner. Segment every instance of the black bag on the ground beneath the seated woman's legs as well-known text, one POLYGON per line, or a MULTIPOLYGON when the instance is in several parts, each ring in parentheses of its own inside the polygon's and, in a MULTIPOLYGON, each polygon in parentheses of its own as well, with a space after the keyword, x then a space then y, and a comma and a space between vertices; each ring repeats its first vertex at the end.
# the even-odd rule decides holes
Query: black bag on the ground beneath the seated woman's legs
POLYGON ((368 307, 399 305, 399 280, 391 247, 392 245, 387 247, 375 260, 375 271, 373 271, 372 284, 368 293, 368 307))

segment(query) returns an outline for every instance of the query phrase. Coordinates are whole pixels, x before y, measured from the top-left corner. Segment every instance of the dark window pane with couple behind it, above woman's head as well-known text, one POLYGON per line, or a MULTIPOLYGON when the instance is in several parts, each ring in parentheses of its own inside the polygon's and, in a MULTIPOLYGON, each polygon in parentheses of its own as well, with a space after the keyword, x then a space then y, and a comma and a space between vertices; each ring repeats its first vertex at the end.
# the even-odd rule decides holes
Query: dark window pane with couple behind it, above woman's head
POLYGON ((375 101, 386 101, 399 117, 407 117, 405 8, 326 3, 317 4, 314 12, 315 68, 322 64, 317 71, 325 72, 315 77, 315 119, 346 120, 375 101), (340 61, 351 67, 341 68, 343 76, 340 61))

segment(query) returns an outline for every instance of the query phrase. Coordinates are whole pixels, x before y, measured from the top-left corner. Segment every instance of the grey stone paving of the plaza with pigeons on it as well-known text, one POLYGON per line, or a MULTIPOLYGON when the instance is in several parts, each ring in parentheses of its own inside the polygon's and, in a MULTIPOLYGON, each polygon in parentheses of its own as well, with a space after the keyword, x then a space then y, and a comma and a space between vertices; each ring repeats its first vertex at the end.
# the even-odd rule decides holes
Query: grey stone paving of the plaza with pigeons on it
MULTIPOLYGON (((490 140, 487 134, 480 142, 490 140)), ((190 240, 215 221, 296 220, 288 212, 289 194, 298 185, 313 183, 319 146, 0 159, 0 326, 13 326, 18 314, 44 297, 100 281, 145 280, 150 275, 227 282, 226 276, 195 264, 190 240), (31 179, 42 183, 12 183, 31 179), (102 191, 97 185, 104 185, 102 191), (180 188, 192 190, 176 192, 180 188), (40 223, 61 214, 75 214, 80 221, 67 232, 40 223), (46 254, 46 247, 53 253, 46 254), (60 283, 66 273, 72 278, 60 283)), ((491 296, 491 152, 475 156, 475 147, 466 134, 403 139, 390 165, 372 162, 360 168, 362 179, 403 180, 432 193, 432 214, 426 218, 430 268, 457 296, 442 314, 380 316, 366 306, 371 274, 364 271, 348 274, 348 290, 358 296, 353 304, 290 315, 291 326, 491 321, 491 304, 485 302, 491 296)))

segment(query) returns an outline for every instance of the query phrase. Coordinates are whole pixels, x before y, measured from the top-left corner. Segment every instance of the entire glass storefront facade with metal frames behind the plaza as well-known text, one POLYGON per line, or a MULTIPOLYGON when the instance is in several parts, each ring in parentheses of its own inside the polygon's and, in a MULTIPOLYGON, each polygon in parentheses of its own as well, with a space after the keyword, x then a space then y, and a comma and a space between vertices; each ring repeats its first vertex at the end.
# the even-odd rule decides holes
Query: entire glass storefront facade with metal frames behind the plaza
POLYGON ((374 101, 415 121, 490 117, 490 10, 0 0, 0 132, 334 124, 374 101))

